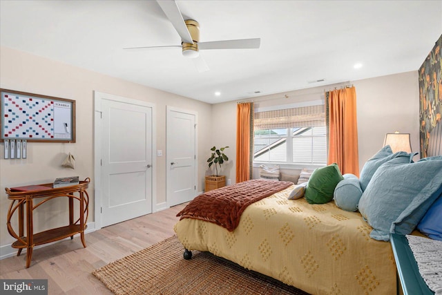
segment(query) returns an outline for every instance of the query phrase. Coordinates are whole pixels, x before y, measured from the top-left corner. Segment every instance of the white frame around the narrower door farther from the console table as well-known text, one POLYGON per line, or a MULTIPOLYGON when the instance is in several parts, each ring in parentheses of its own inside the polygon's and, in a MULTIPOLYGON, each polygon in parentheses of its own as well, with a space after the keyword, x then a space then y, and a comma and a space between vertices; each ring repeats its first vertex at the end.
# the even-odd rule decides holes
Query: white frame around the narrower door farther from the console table
MULTIPOLYGON (((173 111, 173 112, 177 112, 177 113, 185 113, 185 114, 189 114, 189 115, 193 115, 195 116, 195 168, 194 168, 194 186, 195 186, 195 191, 198 191, 198 112, 196 111, 190 111, 190 110, 186 110, 184 108, 176 108, 174 106, 166 106, 166 122, 167 122, 167 116, 169 116, 169 112, 173 111)), ((169 143, 167 142, 167 131, 168 128, 170 128, 170 126, 166 125, 166 167, 167 164, 170 162, 169 159, 169 152, 167 151, 168 145, 169 143)), ((170 200, 168 198, 168 183, 171 182, 171 175, 169 173, 169 169, 166 169, 166 204, 167 207, 170 208, 171 207, 171 203, 170 200)))

